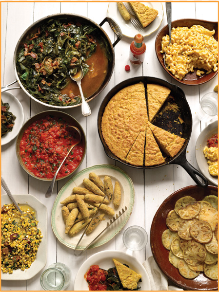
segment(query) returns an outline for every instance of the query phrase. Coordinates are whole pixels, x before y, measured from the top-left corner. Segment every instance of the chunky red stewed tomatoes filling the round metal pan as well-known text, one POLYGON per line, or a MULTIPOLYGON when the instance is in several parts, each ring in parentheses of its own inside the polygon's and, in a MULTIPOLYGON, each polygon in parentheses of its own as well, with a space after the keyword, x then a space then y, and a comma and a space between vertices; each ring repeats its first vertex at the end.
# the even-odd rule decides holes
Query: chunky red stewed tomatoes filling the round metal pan
MULTIPOLYGON (((20 156, 24 166, 39 178, 52 179, 76 141, 65 128, 69 123, 62 118, 46 116, 32 123, 23 133, 20 141, 20 156)), ((70 125, 72 126, 72 125, 70 125)), ((57 174, 57 179, 72 173, 84 154, 81 141, 69 153, 57 174)))

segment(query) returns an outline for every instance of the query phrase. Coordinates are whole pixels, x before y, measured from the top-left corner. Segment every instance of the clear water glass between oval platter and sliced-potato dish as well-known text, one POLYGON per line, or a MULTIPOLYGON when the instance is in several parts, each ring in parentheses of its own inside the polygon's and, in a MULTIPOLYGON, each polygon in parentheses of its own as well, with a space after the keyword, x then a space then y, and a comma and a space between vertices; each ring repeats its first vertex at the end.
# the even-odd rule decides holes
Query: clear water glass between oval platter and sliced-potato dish
POLYGON ((132 250, 139 251, 144 248, 148 241, 147 232, 140 226, 131 226, 123 233, 124 245, 132 250))

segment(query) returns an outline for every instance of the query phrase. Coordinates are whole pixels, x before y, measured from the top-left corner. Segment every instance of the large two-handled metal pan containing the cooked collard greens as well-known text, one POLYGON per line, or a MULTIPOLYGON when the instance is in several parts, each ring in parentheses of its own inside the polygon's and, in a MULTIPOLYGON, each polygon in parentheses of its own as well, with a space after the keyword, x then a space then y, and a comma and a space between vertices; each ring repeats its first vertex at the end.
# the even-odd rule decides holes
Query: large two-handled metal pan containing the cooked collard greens
POLYGON ((112 73, 113 73, 113 70, 114 70, 114 65, 115 65, 114 46, 122 38, 122 33, 121 33, 121 30, 120 30, 118 24, 112 18, 109 18, 109 17, 104 18, 101 21, 100 25, 98 25, 93 20, 91 20, 89 18, 86 18, 86 17, 83 17, 83 16, 80 16, 80 15, 77 15, 77 14, 58 13, 58 14, 53 14, 53 15, 50 15, 50 16, 47 16, 47 17, 44 17, 44 18, 41 18, 41 19, 37 20, 36 22, 34 22, 33 24, 31 24, 25 30, 25 32, 22 34, 22 36, 20 37, 20 39, 19 39, 19 41, 18 41, 18 43, 16 45, 15 53, 14 53, 14 59, 13 59, 14 69, 15 69, 15 75, 16 75, 17 80, 15 80, 14 82, 12 82, 12 83, 10 83, 10 84, 8 84, 6 86, 3 86, 1 88, 1 92, 8 91, 8 90, 12 90, 12 89, 22 88, 22 90, 28 96, 30 96, 32 99, 34 99, 35 101, 39 102, 40 104, 42 104, 44 106, 47 106, 47 107, 50 107, 50 108, 57 108, 57 109, 66 109, 66 108, 78 107, 81 104, 77 104, 77 105, 73 105, 73 106, 69 106, 69 107, 65 107, 65 106, 61 106, 60 107, 60 106, 49 105, 49 104, 46 104, 44 102, 41 102, 38 98, 32 96, 29 93, 29 91, 27 91, 24 88, 24 86, 22 85, 22 83, 20 81, 20 76, 19 76, 18 71, 17 71, 17 68, 16 68, 16 57, 18 55, 18 51, 20 49, 20 46, 23 46, 23 44, 25 43, 26 39, 30 38, 30 34, 34 34, 34 33, 38 32, 38 28, 40 27, 40 25, 42 25, 43 23, 47 22, 49 19, 59 19, 59 20, 63 20, 63 21, 72 21, 72 22, 75 22, 75 23, 76 22, 80 22, 82 24, 89 24, 89 25, 95 27, 100 32, 100 35, 105 38, 105 40, 106 40, 106 42, 108 44, 109 52, 110 52, 110 55, 111 55, 111 61, 108 62, 107 74, 106 74, 106 77, 105 77, 104 81, 102 82, 99 90, 97 90, 94 94, 92 94, 87 99, 87 101, 89 102, 90 100, 94 99, 105 88, 105 86, 108 84, 108 82, 109 82, 109 80, 110 80, 110 78, 112 76, 112 73), (106 32, 101 27, 103 25, 103 23, 105 23, 105 22, 108 22, 109 23, 111 29, 117 35, 117 39, 116 39, 116 41, 113 44, 111 43, 111 40, 108 37, 108 35, 106 34, 106 32), (18 81, 20 87, 9 88, 10 85, 16 83, 17 81, 18 81))

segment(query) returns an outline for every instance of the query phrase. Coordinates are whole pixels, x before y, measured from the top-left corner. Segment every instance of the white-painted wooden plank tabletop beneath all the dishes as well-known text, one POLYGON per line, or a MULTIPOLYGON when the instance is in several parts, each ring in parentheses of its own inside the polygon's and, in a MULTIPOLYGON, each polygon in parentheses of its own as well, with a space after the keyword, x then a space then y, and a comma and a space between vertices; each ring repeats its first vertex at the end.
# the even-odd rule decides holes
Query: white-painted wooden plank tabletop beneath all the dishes
MULTIPOLYGON (((34 21, 55 13, 74 13, 85 16, 100 22, 107 16, 108 1, 101 2, 77 2, 77 1, 55 1, 55 2, 2 2, 1 3, 1 86, 6 85, 15 80, 13 68, 13 55, 15 46, 24 30, 34 21)), ((167 24, 165 13, 165 2, 163 2, 164 18, 159 30, 167 24)), ((218 21, 218 2, 172 2, 172 20, 180 18, 199 18, 212 21, 218 21)), ((107 23, 103 25, 103 29, 108 34, 113 43, 116 39, 114 33, 107 23)), ((83 163, 78 171, 96 164, 114 164, 122 168, 131 177, 135 187, 135 205, 132 215, 125 227, 119 234, 105 245, 88 250, 84 255, 76 257, 73 251, 60 244, 54 236, 51 229, 51 210, 56 195, 60 188, 68 179, 63 179, 55 184, 53 196, 45 199, 44 194, 49 183, 40 182, 29 177, 26 172, 21 169, 15 154, 15 140, 6 146, 2 146, 1 151, 1 175, 8 183, 12 193, 29 193, 36 196, 42 203, 47 206, 47 263, 48 267, 51 263, 60 261, 68 265, 72 271, 72 281, 67 288, 68 291, 74 289, 74 279, 80 265, 89 256, 102 250, 119 250, 126 251, 122 242, 122 234, 124 230, 131 225, 140 225, 150 236, 150 226, 153 217, 162 201, 174 191, 187 185, 195 184, 188 173, 179 165, 166 165, 163 167, 139 170, 125 166, 119 162, 108 158, 103 150, 99 139, 97 129, 98 110, 104 96, 119 82, 135 77, 135 76, 155 76, 172 82, 182 88, 185 92, 186 99, 193 115, 193 130, 187 147, 186 158, 190 164, 198 168, 195 159, 195 144, 199 136, 200 130, 205 128, 206 123, 200 123, 196 119, 196 110, 199 105, 200 97, 218 84, 218 76, 201 86, 183 86, 167 75, 160 67, 157 60, 154 44, 158 31, 152 35, 145 37, 146 55, 143 65, 130 65, 129 46, 132 39, 123 37, 115 47, 115 69, 112 77, 98 97, 90 102, 92 114, 85 118, 81 115, 80 108, 63 110, 75 117, 82 125, 87 138, 87 152, 83 163), (130 72, 124 70, 125 65, 129 64, 130 72)), ((25 121, 31 116, 43 110, 49 110, 48 107, 40 105, 31 100, 22 90, 14 90, 12 93, 20 100, 25 114, 25 121)), ((5 193, 2 190, 2 193, 5 193)), ((140 262, 151 256, 150 242, 145 249, 133 253, 140 262)), ((45 269, 44 268, 44 269, 45 269)), ((40 274, 28 281, 2 281, 2 291, 40 291, 40 274)))

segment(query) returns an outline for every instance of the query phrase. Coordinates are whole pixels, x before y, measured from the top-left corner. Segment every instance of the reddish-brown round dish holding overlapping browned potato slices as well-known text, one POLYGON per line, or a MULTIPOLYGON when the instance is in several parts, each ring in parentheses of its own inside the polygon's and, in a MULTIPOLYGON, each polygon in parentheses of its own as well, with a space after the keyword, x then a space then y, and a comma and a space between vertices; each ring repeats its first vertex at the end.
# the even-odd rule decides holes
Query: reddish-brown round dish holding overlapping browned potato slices
POLYGON ((191 196, 197 201, 201 201, 205 196, 218 196, 218 187, 209 185, 205 188, 197 185, 186 186, 162 202, 157 213, 154 216, 151 225, 150 242, 151 250, 155 261, 160 270, 176 285, 185 290, 217 290, 218 281, 207 278, 203 273, 200 273, 195 279, 186 279, 177 268, 175 268, 168 259, 169 251, 166 250, 161 241, 162 233, 166 226, 166 217, 170 210, 174 209, 175 203, 179 198, 191 196))

